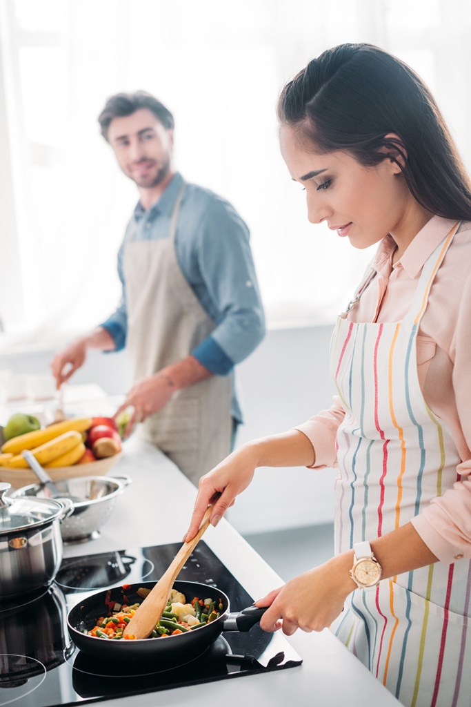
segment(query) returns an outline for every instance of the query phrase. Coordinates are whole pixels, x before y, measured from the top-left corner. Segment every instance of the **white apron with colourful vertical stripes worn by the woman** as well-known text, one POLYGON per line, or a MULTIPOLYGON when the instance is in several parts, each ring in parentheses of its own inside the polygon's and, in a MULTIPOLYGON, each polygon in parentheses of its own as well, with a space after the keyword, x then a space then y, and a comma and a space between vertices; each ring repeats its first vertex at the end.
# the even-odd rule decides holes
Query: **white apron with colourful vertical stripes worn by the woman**
MULTIPOLYGON (((424 401, 416 355, 429 292, 458 226, 424 264, 402 322, 338 318, 330 366, 346 414, 337 434, 337 553, 405 525, 460 480, 458 451, 424 401)), ((470 707, 470 587, 469 560, 437 562, 355 590, 331 630, 407 707, 470 707)))

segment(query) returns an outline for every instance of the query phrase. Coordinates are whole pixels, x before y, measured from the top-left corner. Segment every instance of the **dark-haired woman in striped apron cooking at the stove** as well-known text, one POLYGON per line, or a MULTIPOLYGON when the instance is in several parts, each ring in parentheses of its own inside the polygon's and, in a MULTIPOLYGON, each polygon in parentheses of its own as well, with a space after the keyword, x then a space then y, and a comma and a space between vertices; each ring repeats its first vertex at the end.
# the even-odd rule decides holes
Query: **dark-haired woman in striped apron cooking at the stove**
POLYGON ((313 59, 278 116, 309 221, 378 251, 333 333, 333 407, 203 477, 186 537, 257 467, 338 465, 335 557, 258 601, 262 628, 332 624, 405 705, 469 706, 471 185, 427 87, 376 47, 313 59))

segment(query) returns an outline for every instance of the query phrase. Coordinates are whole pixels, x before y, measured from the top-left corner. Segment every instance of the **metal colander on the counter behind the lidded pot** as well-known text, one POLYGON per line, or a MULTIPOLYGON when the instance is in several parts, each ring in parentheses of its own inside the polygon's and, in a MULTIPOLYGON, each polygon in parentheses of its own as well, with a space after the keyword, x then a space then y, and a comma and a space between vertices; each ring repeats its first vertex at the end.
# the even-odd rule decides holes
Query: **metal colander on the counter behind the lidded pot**
MULTIPOLYGON (((75 477, 54 481, 57 491, 73 496, 73 513, 61 524, 64 543, 86 542, 100 537, 100 527, 105 525, 114 510, 117 497, 123 493, 131 479, 120 477, 75 477), (75 499, 79 498, 80 501, 75 499)), ((13 498, 50 498, 44 484, 23 486, 12 494, 13 498)))

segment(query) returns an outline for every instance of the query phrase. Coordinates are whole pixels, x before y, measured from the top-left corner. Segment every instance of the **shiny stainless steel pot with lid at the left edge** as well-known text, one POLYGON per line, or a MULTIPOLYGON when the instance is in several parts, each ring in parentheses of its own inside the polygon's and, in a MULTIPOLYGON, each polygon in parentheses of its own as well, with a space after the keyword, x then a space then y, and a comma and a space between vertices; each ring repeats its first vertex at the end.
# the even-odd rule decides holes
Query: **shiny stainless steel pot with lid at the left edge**
POLYGON ((60 521, 67 498, 11 498, 0 483, 0 600, 49 585, 62 561, 60 521))

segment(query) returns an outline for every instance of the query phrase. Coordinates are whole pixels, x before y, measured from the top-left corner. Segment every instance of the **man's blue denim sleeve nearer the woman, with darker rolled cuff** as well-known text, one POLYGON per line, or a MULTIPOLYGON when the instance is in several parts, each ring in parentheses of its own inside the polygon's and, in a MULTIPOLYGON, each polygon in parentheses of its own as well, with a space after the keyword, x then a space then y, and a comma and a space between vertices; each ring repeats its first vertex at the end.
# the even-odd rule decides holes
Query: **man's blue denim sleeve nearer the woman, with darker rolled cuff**
POLYGON ((219 315, 210 337, 191 354, 211 373, 227 375, 265 335, 249 229, 220 200, 205 214, 194 247, 201 279, 219 315))

